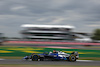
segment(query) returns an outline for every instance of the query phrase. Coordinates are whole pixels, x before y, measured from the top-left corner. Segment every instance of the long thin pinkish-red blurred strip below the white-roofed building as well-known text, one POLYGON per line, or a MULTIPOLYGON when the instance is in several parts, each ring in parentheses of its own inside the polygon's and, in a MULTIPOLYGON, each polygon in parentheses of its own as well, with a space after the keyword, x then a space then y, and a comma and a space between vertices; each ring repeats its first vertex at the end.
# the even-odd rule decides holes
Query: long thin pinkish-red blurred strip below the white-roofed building
POLYGON ((25 44, 70 44, 70 45, 100 45, 100 43, 40 42, 40 41, 8 41, 7 43, 25 43, 25 44))

